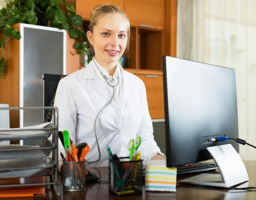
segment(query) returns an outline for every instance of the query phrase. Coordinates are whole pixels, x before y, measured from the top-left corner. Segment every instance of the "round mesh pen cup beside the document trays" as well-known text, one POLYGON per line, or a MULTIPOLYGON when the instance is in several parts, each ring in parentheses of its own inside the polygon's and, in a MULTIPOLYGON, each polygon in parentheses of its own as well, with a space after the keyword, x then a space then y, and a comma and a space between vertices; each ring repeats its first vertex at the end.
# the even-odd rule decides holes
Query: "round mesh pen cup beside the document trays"
POLYGON ((63 191, 81 191, 86 189, 85 160, 79 162, 63 161, 63 191))

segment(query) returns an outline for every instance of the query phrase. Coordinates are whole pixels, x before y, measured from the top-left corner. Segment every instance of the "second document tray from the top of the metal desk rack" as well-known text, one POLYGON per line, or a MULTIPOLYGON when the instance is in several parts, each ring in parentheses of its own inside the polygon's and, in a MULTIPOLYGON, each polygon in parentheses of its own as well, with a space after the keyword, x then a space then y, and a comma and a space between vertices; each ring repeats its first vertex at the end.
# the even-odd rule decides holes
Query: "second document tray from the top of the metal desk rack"
POLYGON ((0 160, 44 158, 50 155, 55 146, 48 139, 37 146, 0 145, 0 160))

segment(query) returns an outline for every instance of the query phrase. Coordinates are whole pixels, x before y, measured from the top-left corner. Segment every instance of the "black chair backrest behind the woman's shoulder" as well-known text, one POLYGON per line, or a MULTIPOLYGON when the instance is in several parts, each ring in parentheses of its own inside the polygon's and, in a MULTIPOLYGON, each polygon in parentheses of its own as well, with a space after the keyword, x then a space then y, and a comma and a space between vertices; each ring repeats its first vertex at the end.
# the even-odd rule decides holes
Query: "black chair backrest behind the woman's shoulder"
MULTIPOLYGON (((67 75, 63 75, 63 78, 67 75)), ((44 73, 43 74, 43 80, 44 80, 44 107, 51 106, 52 100, 55 96, 58 83, 60 81, 61 74, 49 74, 44 73)), ((49 113, 49 110, 44 110, 44 121, 47 118, 47 115, 49 113)), ((50 115, 50 118, 48 121, 52 120, 52 113, 50 115)))

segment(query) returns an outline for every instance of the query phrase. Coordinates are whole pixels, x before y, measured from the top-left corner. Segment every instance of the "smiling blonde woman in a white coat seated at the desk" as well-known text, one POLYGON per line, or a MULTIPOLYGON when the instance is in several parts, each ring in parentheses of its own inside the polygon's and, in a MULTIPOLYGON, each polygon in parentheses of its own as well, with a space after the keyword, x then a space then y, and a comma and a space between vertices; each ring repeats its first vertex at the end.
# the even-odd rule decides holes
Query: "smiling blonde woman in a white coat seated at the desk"
MULTIPOLYGON (((87 31, 95 57, 86 68, 66 76, 58 84, 54 106, 58 107, 59 130, 68 130, 74 145, 86 142, 90 146, 87 161, 99 158, 94 122, 115 92, 113 101, 96 119, 101 159, 88 167, 108 166, 106 146, 119 157, 129 156, 128 141, 136 136, 141 137, 138 149, 141 159, 165 159, 154 141, 145 85, 119 64, 120 57, 128 53, 130 37, 129 20, 120 8, 95 6, 87 31)), ((64 154, 61 145, 59 152, 64 154)), ((60 161, 59 169, 61 165, 60 161)))

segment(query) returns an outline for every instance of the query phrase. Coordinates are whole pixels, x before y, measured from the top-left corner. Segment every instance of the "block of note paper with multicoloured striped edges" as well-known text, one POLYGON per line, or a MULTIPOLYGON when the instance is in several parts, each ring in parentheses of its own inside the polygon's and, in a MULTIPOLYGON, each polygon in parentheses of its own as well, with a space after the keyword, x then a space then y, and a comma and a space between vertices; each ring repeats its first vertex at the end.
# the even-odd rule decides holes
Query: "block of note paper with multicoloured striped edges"
POLYGON ((177 168, 166 167, 166 161, 146 161, 145 189, 176 192, 177 168))

